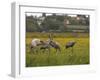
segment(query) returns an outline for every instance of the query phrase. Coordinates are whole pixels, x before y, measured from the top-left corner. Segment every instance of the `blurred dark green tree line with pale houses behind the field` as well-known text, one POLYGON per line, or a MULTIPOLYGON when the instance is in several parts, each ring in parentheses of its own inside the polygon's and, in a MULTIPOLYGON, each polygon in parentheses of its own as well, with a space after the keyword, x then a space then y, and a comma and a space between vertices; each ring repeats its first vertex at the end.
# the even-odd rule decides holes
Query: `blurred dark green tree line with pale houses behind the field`
MULTIPOLYGON (((84 25, 89 26, 89 16, 88 15, 76 15, 68 16, 66 14, 58 15, 46 13, 41 13, 42 16, 27 16, 26 15, 26 32, 50 32, 68 31, 69 25, 84 25)), ((81 28, 81 26, 80 26, 81 28)), ((79 28, 79 29, 80 29, 79 28)), ((89 28, 87 28, 89 29, 89 28)))

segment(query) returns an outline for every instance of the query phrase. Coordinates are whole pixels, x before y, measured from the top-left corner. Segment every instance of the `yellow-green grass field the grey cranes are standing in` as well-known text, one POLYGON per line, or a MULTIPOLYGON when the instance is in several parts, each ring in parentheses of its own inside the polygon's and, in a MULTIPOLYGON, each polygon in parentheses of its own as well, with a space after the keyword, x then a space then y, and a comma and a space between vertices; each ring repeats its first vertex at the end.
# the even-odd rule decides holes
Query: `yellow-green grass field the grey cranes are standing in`
POLYGON ((50 54, 48 51, 38 53, 30 52, 30 43, 33 38, 47 40, 48 35, 44 33, 26 33, 26 67, 38 66, 57 66, 57 65, 80 65, 89 64, 89 34, 88 33, 55 33, 54 41, 59 42, 61 53, 55 53, 55 49, 51 48, 50 54), (65 49, 65 44, 69 41, 76 41, 73 48, 65 49))

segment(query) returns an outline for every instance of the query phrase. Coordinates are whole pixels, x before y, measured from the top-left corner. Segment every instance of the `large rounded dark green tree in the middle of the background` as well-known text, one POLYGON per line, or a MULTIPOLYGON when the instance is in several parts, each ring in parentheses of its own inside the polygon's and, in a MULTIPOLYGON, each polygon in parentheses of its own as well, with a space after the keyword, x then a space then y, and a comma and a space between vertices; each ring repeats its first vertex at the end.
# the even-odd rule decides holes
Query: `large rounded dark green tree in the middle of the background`
POLYGON ((52 15, 46 16, 45 20, 42 22, 44 30, 58 30, 61 25, 63 25, 64 18, 58 16, 55 13, 52 15))

